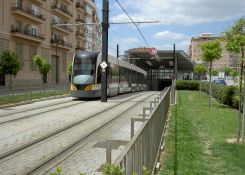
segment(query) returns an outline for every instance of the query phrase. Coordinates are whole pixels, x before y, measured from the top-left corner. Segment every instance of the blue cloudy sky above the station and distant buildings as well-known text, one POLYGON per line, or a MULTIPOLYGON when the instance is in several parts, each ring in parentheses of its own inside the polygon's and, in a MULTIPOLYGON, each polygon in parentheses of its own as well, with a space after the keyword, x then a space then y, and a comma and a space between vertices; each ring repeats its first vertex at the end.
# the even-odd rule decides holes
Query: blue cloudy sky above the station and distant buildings
MULTIPOLYGON (((103 0, 95 0, 100 19, 103 0)), ((118 0, 134 22, 157 23, 111 24, 109 54, 120 54, 131 48, 154 47, 157 50, 176 49, 187 52, 191 37, 200 33, 221 35, 234 22, 245 18, 245 0, 118 0)), ((109 22, 130 22, 116 0, 109 0, 109 22)), ((102 21, 102 20, 101 20, 102 21)))

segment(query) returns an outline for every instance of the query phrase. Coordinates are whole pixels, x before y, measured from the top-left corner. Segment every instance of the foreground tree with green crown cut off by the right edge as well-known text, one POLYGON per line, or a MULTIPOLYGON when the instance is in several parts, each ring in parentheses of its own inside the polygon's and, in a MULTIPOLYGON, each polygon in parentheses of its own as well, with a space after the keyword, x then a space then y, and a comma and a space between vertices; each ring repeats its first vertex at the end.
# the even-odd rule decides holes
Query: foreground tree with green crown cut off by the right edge
MULTIPOLYGON (((240 74, 239 74, 239 107, 238 107, 238 127, 237 127, 237 143, 239 143, 241 137, 241 111, 242 111, 242 99, 243 92, 242 92, 242 80, 243 80, 243 68, 244 68, 244 49, 245 49, 245 19, 240 18, 238 19, 233 26, 229 29, 226 29, 224 32, 224 38, 226 41, 225 48, 227 51, 232 53, 237 53, 241 56, 240 62, 240 74)), ((244 100, 243 100, 244 101, 244 100)), ((245 104, 243 103, 243 108, 245 108, 245 104)), ((245 110, 243 110, 245 111, 245 110)), ((245 135, 245 112, 243 112, 243 143, 244 143, 244 135, 245 135)))

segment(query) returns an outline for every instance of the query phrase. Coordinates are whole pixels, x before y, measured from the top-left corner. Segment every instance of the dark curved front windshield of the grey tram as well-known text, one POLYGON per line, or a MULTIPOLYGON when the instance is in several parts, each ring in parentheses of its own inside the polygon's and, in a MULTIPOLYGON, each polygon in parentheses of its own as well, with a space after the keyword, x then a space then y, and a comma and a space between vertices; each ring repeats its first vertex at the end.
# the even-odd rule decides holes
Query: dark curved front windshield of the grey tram
POLYGON ((93 84, 95 82, 95 61, 91 59, 75 60, 73 64, 74 84, 93 84))

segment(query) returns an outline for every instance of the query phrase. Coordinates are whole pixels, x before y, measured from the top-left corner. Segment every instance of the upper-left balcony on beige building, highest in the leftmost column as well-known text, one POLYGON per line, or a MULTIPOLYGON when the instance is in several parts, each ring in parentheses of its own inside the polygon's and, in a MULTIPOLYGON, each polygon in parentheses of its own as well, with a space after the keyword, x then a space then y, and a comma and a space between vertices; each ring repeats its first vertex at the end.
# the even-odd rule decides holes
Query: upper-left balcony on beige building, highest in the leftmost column
POLYGON ((30 7, 21 7, 21 6, 18 6, 17 4, 13 4, 12 11, 16 15, 24 16, 38 23, 44 23, 46 20, 43 14, 37 11, 34 11, 30 7))

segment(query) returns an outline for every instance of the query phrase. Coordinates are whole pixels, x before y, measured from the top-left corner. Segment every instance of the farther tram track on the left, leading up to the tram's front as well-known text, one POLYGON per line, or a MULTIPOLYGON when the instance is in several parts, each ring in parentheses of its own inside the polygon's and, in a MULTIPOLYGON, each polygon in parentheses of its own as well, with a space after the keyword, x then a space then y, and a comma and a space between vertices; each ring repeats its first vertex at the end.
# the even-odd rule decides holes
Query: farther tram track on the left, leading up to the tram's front
POLYGON ((51 104, 51 105, 48 105, 48 106, 36 107, 36 108, 27 109, 27 110, 23 110, 23 111, 18 111, 18 112, 6 114, 6 115, 0 115, 0 125, 4 124, 4 123, 8 123, 8 122, 22 120, 22 119, 26 119, 26 118, 29 118, 29 117, 45 114, 45 113, 48 113, 48 112, 60 110, 60 109, 62 109, 64 107, 67 108, 67 107, 79 105, 79 104, 82 104, 82 103, 85 103, 85 101, 60 102, 60 103, 51 104), (59 105, 60 105, 60 107, 53 108, 54 106, 59 106, 59 105), (43 109, 47 109, 47 108, 51 108, 51 109, 42 111, 43 109), (35 113, 35 111, 40 111, 40 112, 36 112, 35 113), (27 112, 32 112, 33 114, 26 114, 25 115, 25 113, 27 113, 27 112), (18 116, 16 116, 16 115, 18 115, 18 116))

